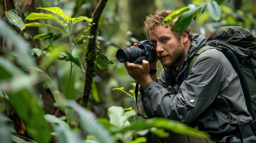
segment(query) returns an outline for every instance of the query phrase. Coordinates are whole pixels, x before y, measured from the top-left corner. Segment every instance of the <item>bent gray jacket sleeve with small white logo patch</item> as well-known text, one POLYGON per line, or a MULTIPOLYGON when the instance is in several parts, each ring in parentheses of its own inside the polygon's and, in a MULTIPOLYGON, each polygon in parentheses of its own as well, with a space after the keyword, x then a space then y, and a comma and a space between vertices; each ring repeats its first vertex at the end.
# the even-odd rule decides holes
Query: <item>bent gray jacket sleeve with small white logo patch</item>
POLYGON ((197 118, 214 101, 220 87, 228 85, 222 68, 228 61, 223 56, 216 49, 200 54, 177 95, 168 92, 163 84, 151 81, 141 95, 146 114, 187 124, 197 118))

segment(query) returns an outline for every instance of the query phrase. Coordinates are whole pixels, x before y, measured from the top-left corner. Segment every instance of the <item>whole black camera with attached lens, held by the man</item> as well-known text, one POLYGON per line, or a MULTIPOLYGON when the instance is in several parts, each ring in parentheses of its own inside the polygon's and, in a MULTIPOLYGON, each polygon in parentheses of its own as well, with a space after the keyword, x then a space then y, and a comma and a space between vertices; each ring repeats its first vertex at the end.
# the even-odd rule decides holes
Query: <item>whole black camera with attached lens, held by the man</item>
POLYGON ((134 48, 121 48, 117 50, 117 61, 120 63, 140 63, 143 59, 148 62, 155 61, 155 47, 148 40, 138 42, 134 48))

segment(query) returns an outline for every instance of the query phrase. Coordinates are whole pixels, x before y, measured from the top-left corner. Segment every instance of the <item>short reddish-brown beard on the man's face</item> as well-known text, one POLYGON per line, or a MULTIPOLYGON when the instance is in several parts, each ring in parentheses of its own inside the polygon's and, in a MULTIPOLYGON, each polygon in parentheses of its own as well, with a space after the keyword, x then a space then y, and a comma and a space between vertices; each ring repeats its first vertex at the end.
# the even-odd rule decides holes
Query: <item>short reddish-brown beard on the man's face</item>
POLYGON ((157 53, 158 57, 163 55, 168 56, 166 59, 159 59, 163 66, 171 66, 180 60, 184 60, 184 46, 182 42, 179 41, 171 53, 157 53))

